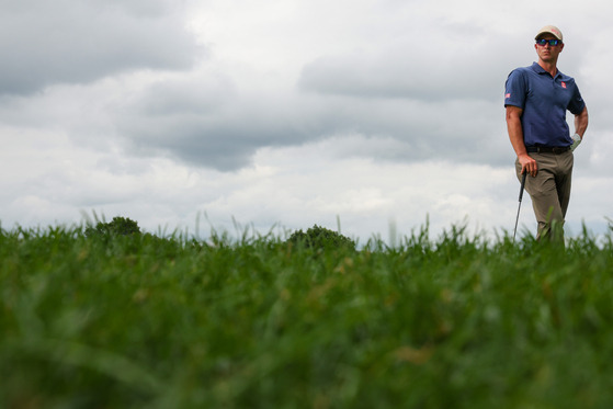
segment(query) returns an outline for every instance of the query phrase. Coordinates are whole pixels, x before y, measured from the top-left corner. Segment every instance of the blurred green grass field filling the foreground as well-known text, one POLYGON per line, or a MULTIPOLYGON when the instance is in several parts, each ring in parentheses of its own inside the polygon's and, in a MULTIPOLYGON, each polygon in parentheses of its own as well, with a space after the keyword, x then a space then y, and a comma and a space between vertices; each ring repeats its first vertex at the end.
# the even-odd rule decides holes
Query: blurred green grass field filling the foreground
POLYGON ((0 229, 0 406, 610 408, 612 242, 0 229))

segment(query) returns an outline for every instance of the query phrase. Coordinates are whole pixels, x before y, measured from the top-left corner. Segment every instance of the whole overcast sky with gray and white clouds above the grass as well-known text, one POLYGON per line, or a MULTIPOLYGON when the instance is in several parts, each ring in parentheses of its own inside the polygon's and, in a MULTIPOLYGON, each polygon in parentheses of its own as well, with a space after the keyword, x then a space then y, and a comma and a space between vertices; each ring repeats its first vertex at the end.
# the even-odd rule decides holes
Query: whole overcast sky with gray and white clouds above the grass
MULTIPOLYGON (((604 0, 0 0, 0 226, 512 232, 504 81, 554 24, 590 113, 567 232, 604 234, 612 13, 604 0)), ((520 232, 535 228, 526 194, 520 232)))

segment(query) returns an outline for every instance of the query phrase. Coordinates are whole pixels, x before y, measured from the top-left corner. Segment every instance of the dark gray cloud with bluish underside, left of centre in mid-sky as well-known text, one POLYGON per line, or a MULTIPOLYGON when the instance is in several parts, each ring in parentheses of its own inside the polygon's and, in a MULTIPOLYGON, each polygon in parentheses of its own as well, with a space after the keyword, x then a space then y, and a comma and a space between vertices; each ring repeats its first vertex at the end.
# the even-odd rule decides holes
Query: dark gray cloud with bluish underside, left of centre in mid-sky
POLYGON ((300 143, 303 112, 286 101, 239 90, 228 77, 196 72, 155 83, 117 112, 117 129, 136 155, 170 155, 223 171, 251 163, 258 148, 300 143))

